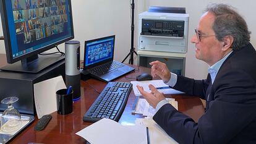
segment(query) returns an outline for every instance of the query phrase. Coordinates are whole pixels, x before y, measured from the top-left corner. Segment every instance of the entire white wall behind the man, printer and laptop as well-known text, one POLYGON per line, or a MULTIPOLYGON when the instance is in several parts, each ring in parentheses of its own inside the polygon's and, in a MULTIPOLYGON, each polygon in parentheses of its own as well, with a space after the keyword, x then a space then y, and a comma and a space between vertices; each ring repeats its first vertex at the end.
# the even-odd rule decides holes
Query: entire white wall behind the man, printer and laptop
MULTIPOLYGON (((130 0, 132 1, 132 0, 130 0)), ((74 20, 75 39, 81 43, 81 57, 83 57, 84 41, 101 36, 116 35, 116 50, 114 59, 122 61, 130 49, 130 1, 129 0, 73 0, 72 12, 74 20)), ((223 2, 220 0, 135 0, 135 35, 134 46, 137 50, 137 23, 138 14, 147 11, 148 6, 174 6, 186 7, 189 13, 189 40, 194 35, 200 15, 207 4, 223 2)), ((242 14, 252 32, 251 42, 256 47, 256 13, 254 0, 226 0, 226 4, 236 7, 242 14)), ((0 28, 0 35, 2 29, 0 28)), ((59 46, 64 51, 64 45, 59 46)), ((0 41, 0 53, 4 53, 3 41, 0 41)), ((207 64, 195 59, 194 44, 189 41, 186 61, 186 76, 193 78, 205 78, 207 64)), ((137 64, 137 57, 134 63, 137 64)), ((126 61, 127 62, 127 61, 126 61)))

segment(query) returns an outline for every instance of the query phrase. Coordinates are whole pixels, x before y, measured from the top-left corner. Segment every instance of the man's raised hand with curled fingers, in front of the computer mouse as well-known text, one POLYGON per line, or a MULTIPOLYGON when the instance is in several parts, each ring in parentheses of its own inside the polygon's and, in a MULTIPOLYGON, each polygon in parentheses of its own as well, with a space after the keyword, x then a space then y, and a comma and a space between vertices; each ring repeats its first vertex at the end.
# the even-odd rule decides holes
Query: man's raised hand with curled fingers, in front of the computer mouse
POLYGON ((171 78, 171 74, 166 64, 160 61, 153 61, 153 62, 150 62, 149 64, 151 65, 152 77, 156 77, 156 75, 158 75, 165 82, 169 81, 169 79, 171 78))

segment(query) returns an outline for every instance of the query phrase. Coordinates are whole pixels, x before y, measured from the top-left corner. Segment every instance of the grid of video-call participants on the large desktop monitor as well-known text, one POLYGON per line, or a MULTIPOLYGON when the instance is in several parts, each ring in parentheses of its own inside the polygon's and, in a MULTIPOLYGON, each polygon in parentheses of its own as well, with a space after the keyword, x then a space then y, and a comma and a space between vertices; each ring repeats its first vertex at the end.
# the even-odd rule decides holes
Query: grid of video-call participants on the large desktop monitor
MULTIPOLYGON (((67 23, 65 4, 66 0, 12 0, 17 38, 23 35, 23 44, 28 44, 64 32, 64 23, 67 23)), ((29 51, 33 48, 13 56, 29 51)))

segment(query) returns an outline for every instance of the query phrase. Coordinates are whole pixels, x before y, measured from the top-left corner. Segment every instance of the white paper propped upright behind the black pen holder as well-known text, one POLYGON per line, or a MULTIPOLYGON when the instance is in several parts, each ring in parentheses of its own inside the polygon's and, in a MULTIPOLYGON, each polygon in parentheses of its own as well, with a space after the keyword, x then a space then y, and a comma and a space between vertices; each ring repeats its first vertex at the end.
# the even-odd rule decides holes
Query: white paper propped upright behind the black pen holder
POLYGON ((34 98, 38 119, 45 114, 57 111, 56 91, 67 88, 62 76, 34 84, 34 98))

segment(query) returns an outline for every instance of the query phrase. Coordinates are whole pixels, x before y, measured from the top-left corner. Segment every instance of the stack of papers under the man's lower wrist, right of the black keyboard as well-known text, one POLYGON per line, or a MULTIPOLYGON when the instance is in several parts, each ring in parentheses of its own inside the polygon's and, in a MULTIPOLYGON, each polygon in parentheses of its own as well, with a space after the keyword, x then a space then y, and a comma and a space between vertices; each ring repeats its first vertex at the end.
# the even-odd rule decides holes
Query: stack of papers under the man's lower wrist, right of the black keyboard
MULTIPOLYGON (((175 101, 174 98, 166 98, 166 100, 168 100, 168 102, 178 110, 177 101, 175 101)), ((152 106, 150 106, 150 104, 144 98, 139 98, 132 113, 142 114, 143 116, 147 117, 153 117, 156 113, 156 110, 152 106)))

